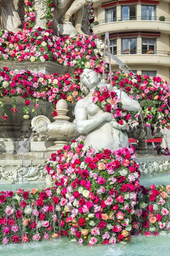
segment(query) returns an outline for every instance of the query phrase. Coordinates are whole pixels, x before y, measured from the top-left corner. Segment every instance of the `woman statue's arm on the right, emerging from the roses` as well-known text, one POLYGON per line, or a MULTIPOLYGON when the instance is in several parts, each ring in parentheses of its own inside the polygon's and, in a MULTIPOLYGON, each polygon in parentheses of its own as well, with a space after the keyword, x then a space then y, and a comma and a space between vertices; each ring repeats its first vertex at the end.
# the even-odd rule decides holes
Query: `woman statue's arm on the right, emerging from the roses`
POLYGON ((128 111, 137 112, 140 110, 140 104, 137 100, 131 99, 125 92, 121 90, 115 90, 118 94, 118 97, 121 99, 122 108, 128 111))

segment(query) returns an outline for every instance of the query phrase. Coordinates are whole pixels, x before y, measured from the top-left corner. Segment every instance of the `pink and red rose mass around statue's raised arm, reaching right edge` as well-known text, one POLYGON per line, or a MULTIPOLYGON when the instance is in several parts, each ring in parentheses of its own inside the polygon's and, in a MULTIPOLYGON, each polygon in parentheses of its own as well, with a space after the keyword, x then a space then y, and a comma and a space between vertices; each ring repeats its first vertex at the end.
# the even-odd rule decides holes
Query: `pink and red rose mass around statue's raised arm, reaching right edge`
POLYGON ((143 115, 145 125, 152 130, 155 124, 157 127, 170 128, 170 85, 160 77, 116 72, 111 79, 108 76, 100 88, 95 89, 93 102, 104 111, 112 113, 120 125, 125 122, 133 125, 143 115), (132 99, 136 98, 142 106, 141 112, 131 113, 122 109, 114 89, 121 89, 132 99))

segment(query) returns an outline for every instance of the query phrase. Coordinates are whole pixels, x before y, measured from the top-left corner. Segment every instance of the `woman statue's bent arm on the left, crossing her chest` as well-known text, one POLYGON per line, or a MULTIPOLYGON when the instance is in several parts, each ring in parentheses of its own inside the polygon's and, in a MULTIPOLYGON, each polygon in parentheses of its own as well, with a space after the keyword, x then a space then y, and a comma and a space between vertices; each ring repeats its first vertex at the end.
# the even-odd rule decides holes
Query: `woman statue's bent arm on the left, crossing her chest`
POLYGON ((111 114, 110 113, 94 113, 92 119, 88 119, 87 111, 83 104, 76 105, 75 108, 75 118, 76 118, 76 126, 77 130, 80 134, 87 133, 92 129, 98 127, 104 121, 111 121, 111 114))

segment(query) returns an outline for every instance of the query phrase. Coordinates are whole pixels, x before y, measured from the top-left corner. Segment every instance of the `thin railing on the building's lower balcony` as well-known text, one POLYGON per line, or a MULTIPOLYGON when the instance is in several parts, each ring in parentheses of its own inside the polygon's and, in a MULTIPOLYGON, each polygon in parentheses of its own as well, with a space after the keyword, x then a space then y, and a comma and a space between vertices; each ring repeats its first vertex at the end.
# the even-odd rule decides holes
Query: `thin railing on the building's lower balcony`
POLYGON ((153 50, 153 53, 147 53, 146 50, 129 50, 129 51, 113 51, 111 52, 113 55, 127 55, 127 54, 144 54, 144 55, 166 55, 166 56, 170 56, 170 52, 169 51, 157 51, 157 50, 153 50))

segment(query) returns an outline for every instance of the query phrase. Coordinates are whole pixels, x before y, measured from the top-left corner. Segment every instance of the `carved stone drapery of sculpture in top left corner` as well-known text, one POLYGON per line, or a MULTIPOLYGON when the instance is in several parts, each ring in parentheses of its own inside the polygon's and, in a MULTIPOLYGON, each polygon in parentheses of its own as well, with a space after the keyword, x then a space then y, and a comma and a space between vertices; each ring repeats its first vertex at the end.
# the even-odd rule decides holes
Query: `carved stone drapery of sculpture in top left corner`
POLYGON ((17 13, 13 1, 0 0, 0 29, 6 29, 17 33, 21 25, 19 14, 17 13))

